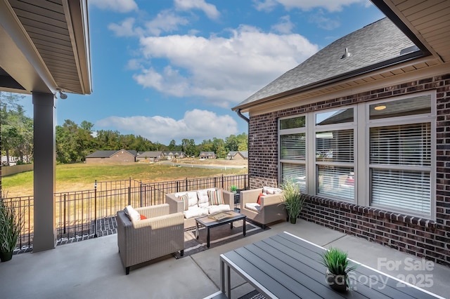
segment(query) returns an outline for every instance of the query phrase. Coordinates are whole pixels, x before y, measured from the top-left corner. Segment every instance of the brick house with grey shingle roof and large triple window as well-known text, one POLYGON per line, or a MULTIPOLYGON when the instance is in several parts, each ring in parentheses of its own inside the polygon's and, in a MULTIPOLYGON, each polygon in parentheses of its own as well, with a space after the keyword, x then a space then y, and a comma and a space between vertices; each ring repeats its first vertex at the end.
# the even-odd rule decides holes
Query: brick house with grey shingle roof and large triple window
POLYGON ((422 20, 443 27, 429 39, 373 2, 389 18, 233 107, 250 116, 250 188, 293 179, 304 220, 449 266, 450 28, 422 20))

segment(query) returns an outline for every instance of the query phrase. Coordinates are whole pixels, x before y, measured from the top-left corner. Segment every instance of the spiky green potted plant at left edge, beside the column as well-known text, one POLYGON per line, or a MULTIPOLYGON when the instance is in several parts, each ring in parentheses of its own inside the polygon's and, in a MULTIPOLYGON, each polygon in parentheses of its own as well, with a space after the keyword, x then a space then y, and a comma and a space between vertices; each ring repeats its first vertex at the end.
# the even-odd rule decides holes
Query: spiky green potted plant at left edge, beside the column
POLYGON ((6 206, 0 198, 0 260, 13 258, 13 251, 23 228, 22 212, 15 206, 6 206))

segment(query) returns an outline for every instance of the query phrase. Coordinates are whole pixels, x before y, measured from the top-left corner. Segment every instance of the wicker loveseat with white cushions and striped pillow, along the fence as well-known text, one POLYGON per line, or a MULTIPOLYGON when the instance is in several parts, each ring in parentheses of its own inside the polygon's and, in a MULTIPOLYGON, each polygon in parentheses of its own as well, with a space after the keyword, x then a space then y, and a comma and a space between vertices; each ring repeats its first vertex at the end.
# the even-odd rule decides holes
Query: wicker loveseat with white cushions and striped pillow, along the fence
POLYGON ((223 204, 211 205, 209 199, 205 197, 207 191, 221 190, 220 188, 208 188, 202 190, 192 190, 166 194, 166 204, 170 206, 170 213, 184 214, 184 228, 195 227, 195 218, 209 215, 219 211, 229 211, 234 203, 234 194, 227 190, 221 190, 223 204), (185 206, 184 201, 180 199, 184 194, 188 194, 188 204, 185 206), (200 213, 200 208, 202 213, 200 213), (195 213, 192 213, 195 211, 195 213))

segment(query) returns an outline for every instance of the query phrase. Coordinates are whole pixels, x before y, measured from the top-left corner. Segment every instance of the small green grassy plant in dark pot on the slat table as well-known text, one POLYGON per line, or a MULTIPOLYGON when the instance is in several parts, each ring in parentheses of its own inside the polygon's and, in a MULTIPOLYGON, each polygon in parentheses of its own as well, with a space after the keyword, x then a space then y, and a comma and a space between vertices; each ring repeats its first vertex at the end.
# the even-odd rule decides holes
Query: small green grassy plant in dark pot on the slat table
POLYGON ((328 251, 321 254, 320 263, 326 267, 327 284, 335 291, 347 291, 348 274, 356 268, 356 265, 349 265, 347 253, 339 248, 330 247, 328 251))

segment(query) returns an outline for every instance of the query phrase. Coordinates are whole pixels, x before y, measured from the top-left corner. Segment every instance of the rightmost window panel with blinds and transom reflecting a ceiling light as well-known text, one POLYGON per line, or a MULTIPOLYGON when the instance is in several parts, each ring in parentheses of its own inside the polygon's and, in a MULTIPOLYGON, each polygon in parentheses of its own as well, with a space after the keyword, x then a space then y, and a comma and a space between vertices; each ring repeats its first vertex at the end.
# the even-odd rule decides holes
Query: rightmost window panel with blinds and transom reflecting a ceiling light
POLYGON ((369 105, 371 206, 431 215, 430 112, 430 95, 369 105))

